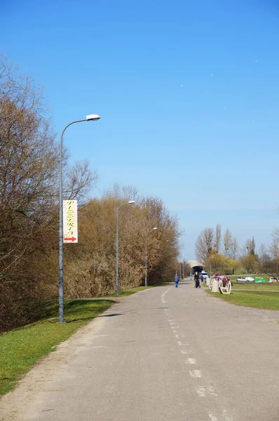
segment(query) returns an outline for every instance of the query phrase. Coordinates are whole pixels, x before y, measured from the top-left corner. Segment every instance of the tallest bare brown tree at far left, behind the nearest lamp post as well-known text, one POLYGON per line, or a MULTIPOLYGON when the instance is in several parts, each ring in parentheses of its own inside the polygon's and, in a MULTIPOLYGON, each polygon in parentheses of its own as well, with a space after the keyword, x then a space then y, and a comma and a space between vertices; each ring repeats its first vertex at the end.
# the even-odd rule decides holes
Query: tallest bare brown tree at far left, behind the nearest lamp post
MULTIPOLYGON (((0 321, 16 300, 51 295, 56 279, 60 154, 41 87, 0 56, 0 321), (54 260, 53 260, 54 259, 54 260)), ((67 171, 67 153, 63 157, 67 171)), ((84 198, 94 176, 77 164, 64 196, 84 198)), ((56 290, 57 288, 55 288, 56 290)), ((23 307, 23 306, 22 306, 23 307)), ((14 312, 4 319, 25 320, 14 312)), ((0 326, 1 329, 1 326, 0 326)))

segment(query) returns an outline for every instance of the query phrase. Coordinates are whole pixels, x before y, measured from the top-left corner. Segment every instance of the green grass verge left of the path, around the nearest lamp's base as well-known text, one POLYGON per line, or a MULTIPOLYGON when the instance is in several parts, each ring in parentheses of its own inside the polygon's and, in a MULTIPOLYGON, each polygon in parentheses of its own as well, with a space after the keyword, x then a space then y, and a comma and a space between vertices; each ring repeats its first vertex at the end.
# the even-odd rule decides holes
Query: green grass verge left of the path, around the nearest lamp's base
POLYGON ((11 390, 36 361, 110 307, 111 300, 67 300, 64 321, 57 323, 58 303, 43 302, 42 319, 0 336, 0 394, 11 390))

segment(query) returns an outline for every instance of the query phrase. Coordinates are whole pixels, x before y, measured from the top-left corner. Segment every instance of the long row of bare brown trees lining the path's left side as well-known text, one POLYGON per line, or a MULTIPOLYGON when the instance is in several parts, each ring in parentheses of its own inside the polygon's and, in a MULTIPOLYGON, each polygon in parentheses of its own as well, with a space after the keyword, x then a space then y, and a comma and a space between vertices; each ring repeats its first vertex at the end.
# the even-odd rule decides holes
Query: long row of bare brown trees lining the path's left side
MULTIPOLYGON (((0 56, 0 331, 35 320, 40 300, 58 295, 60 154, 43 91, 0 56)), ((81 298, 112 293, 119 213, 119 283, 139 286, 169 279, 179 253, 179 225, 163 201, 133 187, 89 193, 97 172, 88 161, 69 164, 64 147, 63 199, 79 204, 79 243, 64 246, 64 293, 81 298), (152 227, 156 232, 149 232, 152 227)))

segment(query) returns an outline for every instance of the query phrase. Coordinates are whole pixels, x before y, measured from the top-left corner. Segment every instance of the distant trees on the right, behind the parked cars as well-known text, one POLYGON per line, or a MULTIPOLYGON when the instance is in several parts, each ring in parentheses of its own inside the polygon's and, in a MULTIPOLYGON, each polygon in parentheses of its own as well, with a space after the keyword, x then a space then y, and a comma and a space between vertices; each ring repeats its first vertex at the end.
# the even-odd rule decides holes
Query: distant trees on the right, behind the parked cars
POLYGON ((234 274, 243 267, 247 274, 268 274, 279 277, 279 228, 272 234, 270 246, 261 243, 256 250, 254 236, 242 247, 229 229, 222 234, 221 225, 203 229, 195 243, 196 258, 203 262, 207 271, 234 274))

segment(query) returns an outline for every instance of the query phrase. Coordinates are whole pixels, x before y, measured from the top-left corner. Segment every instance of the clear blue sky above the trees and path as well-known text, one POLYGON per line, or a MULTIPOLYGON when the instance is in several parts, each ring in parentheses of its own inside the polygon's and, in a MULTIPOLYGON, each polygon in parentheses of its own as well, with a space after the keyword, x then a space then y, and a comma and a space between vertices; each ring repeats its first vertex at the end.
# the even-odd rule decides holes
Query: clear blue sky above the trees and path
POLYGON ((159 196, 194 258, 201 229, 279 225, 277 1, 2 0, 0 50, 44 86, 55 131, 100 180, 159 196))

